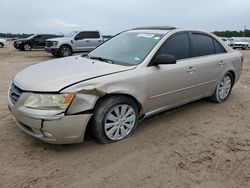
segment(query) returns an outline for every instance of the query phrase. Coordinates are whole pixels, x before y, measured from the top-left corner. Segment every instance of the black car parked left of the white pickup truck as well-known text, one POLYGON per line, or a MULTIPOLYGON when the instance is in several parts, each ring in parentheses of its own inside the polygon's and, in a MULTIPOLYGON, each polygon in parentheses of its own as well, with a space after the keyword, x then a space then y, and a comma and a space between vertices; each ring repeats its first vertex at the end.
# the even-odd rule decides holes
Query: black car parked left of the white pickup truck
POLYGON ((28 38, 18 39, 13 45, 16 49, 30 51, 32 48, 44 48, 46 46, 47 39, 58 37, 62 37, 62 35, 37 34, 28 38))

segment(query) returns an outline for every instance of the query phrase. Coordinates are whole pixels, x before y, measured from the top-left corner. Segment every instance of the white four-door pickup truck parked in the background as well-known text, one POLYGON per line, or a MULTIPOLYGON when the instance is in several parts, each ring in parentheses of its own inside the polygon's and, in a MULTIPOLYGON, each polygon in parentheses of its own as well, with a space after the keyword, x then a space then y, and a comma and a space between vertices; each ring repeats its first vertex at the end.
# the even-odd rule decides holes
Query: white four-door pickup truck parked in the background
POLYGON ((89 52, 103 42, 99 31, 73 31, 63 38, 46 41, 45 50, 54 56, 71 56, 74 52, 89 52))

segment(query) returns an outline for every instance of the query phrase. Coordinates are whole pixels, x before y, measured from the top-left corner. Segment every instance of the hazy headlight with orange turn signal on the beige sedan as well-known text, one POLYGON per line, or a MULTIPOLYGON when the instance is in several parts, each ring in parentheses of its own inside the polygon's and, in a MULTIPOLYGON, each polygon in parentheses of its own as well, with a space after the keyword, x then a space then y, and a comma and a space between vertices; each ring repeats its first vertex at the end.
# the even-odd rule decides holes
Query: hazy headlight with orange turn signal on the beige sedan
POLYGON ((31 94, 24 106, 39 110, 64 110, 74 98, 74 93, 67 94, 31 94))

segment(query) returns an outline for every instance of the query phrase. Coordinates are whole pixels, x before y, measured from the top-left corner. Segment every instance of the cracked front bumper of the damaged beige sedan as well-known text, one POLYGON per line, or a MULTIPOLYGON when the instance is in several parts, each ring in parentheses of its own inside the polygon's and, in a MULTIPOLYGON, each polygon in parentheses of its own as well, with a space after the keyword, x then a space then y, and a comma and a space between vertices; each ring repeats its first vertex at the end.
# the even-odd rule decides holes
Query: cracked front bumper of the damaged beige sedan
MULTIPOLYGON (((64 113, 48 115, 30 113, 32 109, 20 105, 13 106, 9 101, 9 109, 18 127, 25 133, 51 144, 82 143, 85 129, 92 114, 65 116, 64 113)), ((34 111, 34 110, 33 110, 34 111)))

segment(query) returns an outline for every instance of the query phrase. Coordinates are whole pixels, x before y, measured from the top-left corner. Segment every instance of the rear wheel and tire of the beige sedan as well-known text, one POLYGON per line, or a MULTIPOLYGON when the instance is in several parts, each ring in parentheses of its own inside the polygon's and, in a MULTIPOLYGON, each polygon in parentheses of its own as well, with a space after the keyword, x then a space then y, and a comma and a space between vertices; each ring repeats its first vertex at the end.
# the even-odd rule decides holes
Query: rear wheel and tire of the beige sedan
POLYGON ((231 73, 228 72, 227 74, 225 74, 225 76, 223 76, 223 78, 217 85, 211 99, 217 103, 222 103, 226 101, 231 93, 233 84, 234 77, 231 73))

